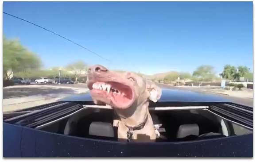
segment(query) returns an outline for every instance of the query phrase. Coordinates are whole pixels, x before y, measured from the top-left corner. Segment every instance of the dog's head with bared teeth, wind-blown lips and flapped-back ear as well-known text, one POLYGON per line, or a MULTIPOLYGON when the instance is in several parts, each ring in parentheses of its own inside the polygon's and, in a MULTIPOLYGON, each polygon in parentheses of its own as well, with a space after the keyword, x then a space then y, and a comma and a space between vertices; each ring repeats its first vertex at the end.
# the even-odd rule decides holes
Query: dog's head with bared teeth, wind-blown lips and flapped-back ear
POLYGON ((95 65, 88 69, 88 88, 95 104, 109 104, 113 108, 127 109, 148 100, 156 102, 161 89, 136 73, 111 71, 95 65))

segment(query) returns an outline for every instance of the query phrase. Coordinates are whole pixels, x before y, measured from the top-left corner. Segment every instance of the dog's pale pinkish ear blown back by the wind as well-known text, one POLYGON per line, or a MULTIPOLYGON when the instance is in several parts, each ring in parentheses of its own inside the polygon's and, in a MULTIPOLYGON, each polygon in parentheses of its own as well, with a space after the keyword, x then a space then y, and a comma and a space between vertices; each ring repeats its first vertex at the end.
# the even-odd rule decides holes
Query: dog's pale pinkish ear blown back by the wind
POLYGON ((162 95, 162 89, 150 81, 147 81, 147 91, 149 92, 148 99, 153 102, 157 102, 162 95))

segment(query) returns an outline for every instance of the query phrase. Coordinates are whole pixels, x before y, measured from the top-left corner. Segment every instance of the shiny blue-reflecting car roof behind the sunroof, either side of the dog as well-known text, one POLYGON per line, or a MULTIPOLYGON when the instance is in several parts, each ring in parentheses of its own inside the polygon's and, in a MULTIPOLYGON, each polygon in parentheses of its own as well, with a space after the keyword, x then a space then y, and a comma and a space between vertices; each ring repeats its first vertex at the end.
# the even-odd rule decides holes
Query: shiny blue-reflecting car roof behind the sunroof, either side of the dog
MULTIPOLYGON (((62 101, 92 101, 89 93, 76 94, 61 99, 62 101)), ((229 102, 221 96, 177 89, 162 89, 159 102, 229 102)))

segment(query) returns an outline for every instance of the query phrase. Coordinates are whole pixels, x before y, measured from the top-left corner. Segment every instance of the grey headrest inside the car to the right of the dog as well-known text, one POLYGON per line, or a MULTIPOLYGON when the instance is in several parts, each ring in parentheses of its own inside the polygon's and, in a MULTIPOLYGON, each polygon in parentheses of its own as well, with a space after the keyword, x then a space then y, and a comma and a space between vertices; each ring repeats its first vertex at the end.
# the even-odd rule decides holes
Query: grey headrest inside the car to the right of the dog
POLYGON ((178 127, 177 138, 184 138, 189 135, 199 135, 198 124, 183 124, 178 127))

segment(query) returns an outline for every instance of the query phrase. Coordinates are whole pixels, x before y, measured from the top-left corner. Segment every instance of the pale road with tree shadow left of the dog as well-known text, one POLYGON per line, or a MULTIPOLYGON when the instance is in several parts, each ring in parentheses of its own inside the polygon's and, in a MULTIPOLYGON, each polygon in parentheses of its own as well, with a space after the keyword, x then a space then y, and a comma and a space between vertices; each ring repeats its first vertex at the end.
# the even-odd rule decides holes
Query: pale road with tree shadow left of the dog
POLYGON ((15 85, 4 87, 4 112, 55 102, 72 94, 86 93, 86 85, 15 85))

